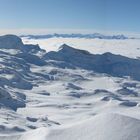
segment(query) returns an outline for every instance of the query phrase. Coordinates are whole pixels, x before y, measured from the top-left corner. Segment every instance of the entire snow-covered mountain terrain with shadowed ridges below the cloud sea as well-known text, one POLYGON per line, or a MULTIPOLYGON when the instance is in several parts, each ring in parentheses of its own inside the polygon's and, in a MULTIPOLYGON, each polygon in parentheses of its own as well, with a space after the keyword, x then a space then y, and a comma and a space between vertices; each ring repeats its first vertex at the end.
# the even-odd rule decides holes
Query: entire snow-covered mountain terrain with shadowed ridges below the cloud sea
POLYGON ((0 140, 140 139, 139 59, 0 38, 0 140))

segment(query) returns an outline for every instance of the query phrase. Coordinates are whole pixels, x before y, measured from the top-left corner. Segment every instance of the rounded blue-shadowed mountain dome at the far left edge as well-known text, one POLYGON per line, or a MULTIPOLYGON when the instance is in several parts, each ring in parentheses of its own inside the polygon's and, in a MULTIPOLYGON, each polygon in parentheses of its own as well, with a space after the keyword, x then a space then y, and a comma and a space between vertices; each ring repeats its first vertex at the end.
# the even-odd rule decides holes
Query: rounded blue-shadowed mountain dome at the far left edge
POLYGON ((22 46, 22 40, 18 36, 0 36, 0 49, 20 49, 22 46))

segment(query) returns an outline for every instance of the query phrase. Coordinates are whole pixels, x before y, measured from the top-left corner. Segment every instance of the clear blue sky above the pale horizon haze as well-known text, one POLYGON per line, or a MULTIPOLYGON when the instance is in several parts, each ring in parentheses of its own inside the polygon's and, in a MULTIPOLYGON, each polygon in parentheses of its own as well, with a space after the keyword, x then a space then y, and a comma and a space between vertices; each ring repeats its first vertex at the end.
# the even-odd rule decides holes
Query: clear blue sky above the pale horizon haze
POLYGON ((0 29, 140 32, 140 0, 0 0, 0 29))

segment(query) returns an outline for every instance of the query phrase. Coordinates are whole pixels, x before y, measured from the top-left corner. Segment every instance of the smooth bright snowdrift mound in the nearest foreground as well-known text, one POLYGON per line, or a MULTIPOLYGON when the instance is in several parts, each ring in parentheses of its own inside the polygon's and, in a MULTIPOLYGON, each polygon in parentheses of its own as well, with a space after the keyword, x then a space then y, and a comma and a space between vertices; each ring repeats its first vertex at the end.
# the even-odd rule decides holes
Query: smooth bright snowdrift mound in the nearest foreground
MULTIPOLYGON (((14 140, 139 140, 140 120, 120 114, 100 114, 72 126, 39 128, 14 140)), ((3 137, 4 140, 12 140, 3 137)), ((0 139, 3 139, 2 137, 0 139)))

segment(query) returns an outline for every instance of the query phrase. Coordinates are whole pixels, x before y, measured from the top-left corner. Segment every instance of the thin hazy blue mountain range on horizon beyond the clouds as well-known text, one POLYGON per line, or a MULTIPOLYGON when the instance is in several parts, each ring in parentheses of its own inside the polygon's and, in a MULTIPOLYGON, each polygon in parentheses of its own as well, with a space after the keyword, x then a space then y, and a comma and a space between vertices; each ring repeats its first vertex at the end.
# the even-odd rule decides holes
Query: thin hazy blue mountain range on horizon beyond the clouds
POLYGON ((134 39, 129 38, 124 35, 103 35, 100 33, 93 34, 47 34, 47 35, 22 35, 20 37, 28 37, 29 39, 47 39, 53 37, 62 37, 62 38, 86 38, 86 39, 134 39))

